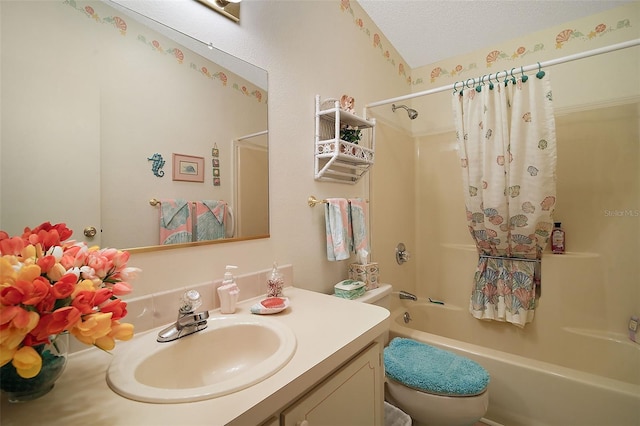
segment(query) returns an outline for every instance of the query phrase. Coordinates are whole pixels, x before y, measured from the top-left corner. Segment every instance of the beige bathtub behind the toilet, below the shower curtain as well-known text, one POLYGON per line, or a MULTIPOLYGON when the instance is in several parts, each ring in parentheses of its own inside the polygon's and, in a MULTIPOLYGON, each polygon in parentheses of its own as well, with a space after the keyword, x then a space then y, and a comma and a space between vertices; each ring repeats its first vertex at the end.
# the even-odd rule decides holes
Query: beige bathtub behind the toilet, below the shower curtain
MULTIPOLYGON (((544 333, 541 335, 539 329, 532 328, 531 334, 526 335, 524 330, 513 325, 476 320, 467 309, 461 307, 433 304, 422 299, 417 302, 399 300, 397 293, 392 295, 391 310, 390 338, 409 337, 447 349, 475 360, 489 371, 490 402, 485 416, 489 424, 640 425, 640 384, 636 381, 640 375, 640 346, 632 342, 621 341, 614 338, 616 336, 601 336, 589 330, 556 327, 561 336, 566 334, 564 340, 586 351, 583 355, 587 358, 590 347, 598 348, 598 353, 604 351, 600 355, 609 356, 607 364, 619 364, 611 362, 611 359, 617 358, 612 357, 610 351, 623 348, 623 361, 620 364, 627 364, 622 370, 596 365, 595 370, 599 373, 595 374, 546 361, 555 355, 550 355, 554 352, 553 348, 543 348, 545 336, 544 333), (405 323, 407 312, 412 319, 405 323), (473 342, 473 336, 483 338, 483 332, 486 333, 487 329, 490 332, 484 338, 497 337, 503 342, 503 348, 497 350, 493 344, 488 348, 473 342), (491 332, 497 336, 491 336, 491 332), (530 346, 522 345, 519 339, 528 339, 533 343, 530 346), (584 339, 586 343, 582 341, 584 339), (527 356, 508 352, 510 346, 524 346, 527 356), (540 348, 534 351, 531 346, 540 348), (535 359, 534 355, 542 360, 535 359), (612 371, 611 376, 614 377, 628 371, 628 380, 600 374, 608 371, 612 371)), ((552 345, 557 343, 557 340, 552 341, 552 345)), ((596 359, 596 362, 600 361, 596 359)), ((567 362, 570 363, 571 359, 567 362)), ((590 361, 578 364, 581 367, 589 366, 590 361)))

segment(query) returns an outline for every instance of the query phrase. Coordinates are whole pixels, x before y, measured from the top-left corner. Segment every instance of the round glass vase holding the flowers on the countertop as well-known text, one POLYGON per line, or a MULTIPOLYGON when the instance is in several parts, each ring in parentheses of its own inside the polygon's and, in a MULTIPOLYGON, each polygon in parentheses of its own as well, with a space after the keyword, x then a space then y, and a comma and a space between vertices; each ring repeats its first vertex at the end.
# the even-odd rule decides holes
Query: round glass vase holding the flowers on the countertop
POLYGON ((11 362, 0 368, 0 388, 9 402, 31 401, 53 389, 67 365, 69 334, 51 336, 50 340, 51 343, 33 347, 42 357, 42 369, 35 377, 20 377, 11 362))

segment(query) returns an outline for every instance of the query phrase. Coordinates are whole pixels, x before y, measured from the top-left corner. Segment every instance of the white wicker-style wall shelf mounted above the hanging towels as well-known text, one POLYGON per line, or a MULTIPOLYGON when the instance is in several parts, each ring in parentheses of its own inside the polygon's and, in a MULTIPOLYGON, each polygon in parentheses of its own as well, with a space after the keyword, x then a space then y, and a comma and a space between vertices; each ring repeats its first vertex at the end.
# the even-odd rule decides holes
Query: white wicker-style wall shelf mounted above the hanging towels
POLYGON ((373 165, 375 119, 364 119, 340 109, 337 99, 316 95, 315 179, 355 184, 373 165), (340 139, 341 126, 363 130, 358 144, 340 139))

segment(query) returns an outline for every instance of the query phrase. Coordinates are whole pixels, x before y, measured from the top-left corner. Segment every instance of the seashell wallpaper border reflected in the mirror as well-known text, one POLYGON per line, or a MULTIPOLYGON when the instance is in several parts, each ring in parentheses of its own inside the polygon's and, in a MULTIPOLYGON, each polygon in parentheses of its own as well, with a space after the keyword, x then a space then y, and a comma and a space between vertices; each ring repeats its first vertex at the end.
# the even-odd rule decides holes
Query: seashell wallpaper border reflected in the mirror
MULTIPOLYGON (((135 34, 130 34, 131 31, 125 19, 116 15, 105 15, 104 17, 101 17, 93 6, 79 6, 78 3, 74 0, 65 0, 64 4, 80 12, 78 16, 91 18, 97 24, 107 24, 113 26, 114 30, 119 31, 120 35, 122 36, 135 36, 136 40, 141 42, 140 46, 151 48, 159 55, 164 55, 168 60, 175 60, 180 65, 185 65, 185 61, 188 62, 188 69, 200 73, 200 75, 210 79, 212 82, 217 81, 223 87, 232 89, 238 94, 254 98, 257 102, 267 103, 267 94, 262 89, 253 86, 248 81, 223 67, 217 67, 215 63, 204 59, 202 56, 196 53, 188 51, 185 54, 183 50, 175 47, 176 45, 172 46, 171 41, 167 41, 166 44, 163 45, 163 43, 158 39, 145 35, 141 32, 139 32, 137 36, 135 34), (193 58, 191 58, 192 55, 193 58)), ((149 32, 151 33, 152 30, 149 30, 149 32)))

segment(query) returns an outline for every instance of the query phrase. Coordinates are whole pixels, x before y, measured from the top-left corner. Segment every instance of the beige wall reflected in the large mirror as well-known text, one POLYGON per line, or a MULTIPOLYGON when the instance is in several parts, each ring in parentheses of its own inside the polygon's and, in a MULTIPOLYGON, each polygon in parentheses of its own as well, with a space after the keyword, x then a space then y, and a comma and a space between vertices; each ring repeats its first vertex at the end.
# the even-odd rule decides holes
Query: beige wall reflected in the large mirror
MULTIPOLYGON (((101 3, 78 4, 93 4, 103 18, 119 13, 101 3)), ((166 52, 175 42, 133 19, 127 19, 123 34, 69 4, 50 1, 3 1, 2 16, 8 58, 2 68, 2 175, 5 182, 22 185, 3 188, 0 229, 15 234, 44 221, 69 223, 70 210, 90 204, 87 194, 97 193, 101 220, 85 214, 82 222, 102 229, 102 241, 92 243, 144 247, 159 244, 159 207, 148 200, 233 202, 232 140, 266 129, 267 99, 258 101, 232 86, 252 93, 255 85, 183 47, 177 60, 166 52), (151 48, 152 40, 160 48, 151 48), (213 75, 223 72, 228 84, 204 77, 201 67, 213 75), (220 151, 220 186, 212 184, 214 144, 220 151), (99 153, 82 152, 90 147, 99 153), (151 172, 147 159, 154 153, 166 162, 163 178, 151 172), (202 157, 204 182, 172 180, 173 153, 202 157), (20 159, 37 172, 25 173, 20 159), (100 176, 95 185, 76 190, 94 175, 100 176), (68 194, 72 199, 60 202, 68 194), (34 200, 47 208, 33 208, 34 200), (56 205, 61 211, 53 211, 56 205)), ((81 229, 73 229, 77 238, 81 229)))

